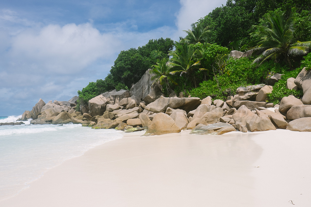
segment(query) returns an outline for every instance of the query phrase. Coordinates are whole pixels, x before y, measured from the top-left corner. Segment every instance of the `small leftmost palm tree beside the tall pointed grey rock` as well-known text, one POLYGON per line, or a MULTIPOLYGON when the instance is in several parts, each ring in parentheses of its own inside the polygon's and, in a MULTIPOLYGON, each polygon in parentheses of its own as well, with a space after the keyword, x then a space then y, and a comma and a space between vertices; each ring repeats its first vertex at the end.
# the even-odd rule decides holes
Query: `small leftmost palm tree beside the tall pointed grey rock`
POLYGON ((156 84, 165 84, 166 90, 168 94, 172 93, 173 90, 169 85, 169 82, 174 83, 177 85, 177 83, 171 78, 170 69, 171 67, 167 65, 168 58, 163 58, 162 60, 158 61, 156 65, 152 65, 151 70, 149 71, 150 74, 154 74, 151 77, 151 80, 153 81, 151 87, 153 88, 156 84))

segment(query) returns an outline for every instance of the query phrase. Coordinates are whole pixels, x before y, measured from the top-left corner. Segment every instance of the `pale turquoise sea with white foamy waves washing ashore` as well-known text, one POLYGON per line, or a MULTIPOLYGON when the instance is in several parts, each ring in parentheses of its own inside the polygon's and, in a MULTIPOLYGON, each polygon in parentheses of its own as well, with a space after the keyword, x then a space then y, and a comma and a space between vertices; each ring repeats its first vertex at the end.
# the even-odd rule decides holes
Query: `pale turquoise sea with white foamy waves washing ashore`
MULTIPOLYGON (((0 123, 21 116, 0 116, 0 123)), ((89 149, 122 138, 114 129, 81 124, 0 126, 0 200, 28 188, 49 169, 89 149)))

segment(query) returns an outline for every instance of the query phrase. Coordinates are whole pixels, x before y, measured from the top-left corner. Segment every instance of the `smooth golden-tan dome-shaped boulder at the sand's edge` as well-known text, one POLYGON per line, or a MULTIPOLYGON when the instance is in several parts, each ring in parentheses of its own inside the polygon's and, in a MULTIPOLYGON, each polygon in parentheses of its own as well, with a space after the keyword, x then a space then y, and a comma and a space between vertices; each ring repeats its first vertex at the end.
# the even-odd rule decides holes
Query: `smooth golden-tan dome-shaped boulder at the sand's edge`
POLYGON ((168 133, 179 133, 181 130, 175 124, 174 119, 164 113, 158 113, 153 118, 151 124, 148 127, 147 133, 155 135, 168 134, 168 133))

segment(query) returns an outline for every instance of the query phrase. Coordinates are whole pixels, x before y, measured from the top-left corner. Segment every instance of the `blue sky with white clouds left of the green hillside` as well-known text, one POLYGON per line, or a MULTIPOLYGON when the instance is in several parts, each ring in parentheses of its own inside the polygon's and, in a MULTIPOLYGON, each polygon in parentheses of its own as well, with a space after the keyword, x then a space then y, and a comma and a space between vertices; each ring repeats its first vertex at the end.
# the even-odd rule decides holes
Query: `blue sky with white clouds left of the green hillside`
POLYGON ((226 0, 2 0, 0 116, 68 101, 104 79, 122 50, 183 30, 226 0))

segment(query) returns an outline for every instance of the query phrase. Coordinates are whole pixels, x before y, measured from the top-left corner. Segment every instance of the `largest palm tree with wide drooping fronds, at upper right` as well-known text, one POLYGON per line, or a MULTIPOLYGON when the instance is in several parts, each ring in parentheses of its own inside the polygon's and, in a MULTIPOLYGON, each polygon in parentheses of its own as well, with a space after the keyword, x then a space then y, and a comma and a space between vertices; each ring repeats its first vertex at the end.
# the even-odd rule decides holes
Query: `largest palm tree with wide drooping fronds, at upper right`
POLYGON ((264 19, 260 19, 261 25, 253 25, 253 28, 258 29, 258 32, 253 32, 250 35, 258 37, 260 40, 257 47, 252 50, 262 52, 254 62, 262 63, 270 59, 283 58, 292 68, 291 56, 308 54, 311 41, 299 42, 295 38, 310 19, 306 18, 298 26, 295 26, 296 21, 293 13, 286 20, 285 13, 270 12, 264 15, 264 19))

